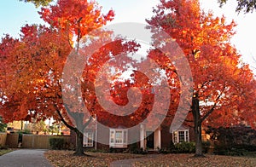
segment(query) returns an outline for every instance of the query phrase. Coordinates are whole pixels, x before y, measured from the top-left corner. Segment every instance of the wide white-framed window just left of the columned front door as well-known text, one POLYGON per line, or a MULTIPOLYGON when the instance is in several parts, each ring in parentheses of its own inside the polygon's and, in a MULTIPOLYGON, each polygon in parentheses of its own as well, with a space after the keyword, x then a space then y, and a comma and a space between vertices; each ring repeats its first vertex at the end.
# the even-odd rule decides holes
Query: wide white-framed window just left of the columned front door
POLYGON ((109 147, 127 147, 127 130, 110 129, 109 147))

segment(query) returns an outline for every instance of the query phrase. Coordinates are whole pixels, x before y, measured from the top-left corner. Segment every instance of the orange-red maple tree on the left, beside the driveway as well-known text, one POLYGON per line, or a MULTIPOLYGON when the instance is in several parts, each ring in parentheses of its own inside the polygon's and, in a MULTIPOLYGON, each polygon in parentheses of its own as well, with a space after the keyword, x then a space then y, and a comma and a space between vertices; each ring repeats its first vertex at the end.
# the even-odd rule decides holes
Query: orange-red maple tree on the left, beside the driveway
MULTIPOLYGON (((42 8, 39 14, 50 27, 22 27, 20 41, 10 46, 11 50, 8 47, 13 42, 8 41, 8 37, 1 43, 4 47, 4 53, 1 53, 3 64, 9 66, 3 68, 8 72, 1 73, 5 83, 8 83, 3 85, 1 91, 6 99, 1 103, 1 115, 6 121, 50 117, 59 119, 78 135, 75 154, 84 154, 83 134, 68 115, 73 114, 75 118, 79 112, 67 113, 71 108, 66 106, 66 111, 62 101, 63 67, 71 51, 74 48, 79 51, 79 40, 84 35, 113 20, 113 10, 102 14, 96 2, 59 0, 55 5, 42 8), (73 40, 74 37, 76 40, 73 40)), ((82 121, 84 127, 90 119, 82 121)))

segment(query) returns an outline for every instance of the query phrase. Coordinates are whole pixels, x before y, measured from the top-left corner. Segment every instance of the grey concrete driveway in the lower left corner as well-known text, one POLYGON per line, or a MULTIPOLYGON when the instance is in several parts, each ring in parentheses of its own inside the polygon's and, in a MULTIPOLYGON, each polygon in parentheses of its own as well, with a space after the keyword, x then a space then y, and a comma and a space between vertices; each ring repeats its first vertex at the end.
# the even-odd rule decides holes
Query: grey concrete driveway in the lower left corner
POLYGON ((44 158, 45 150, 20 149, 0 156, 1 167, 52 167, 44 158))

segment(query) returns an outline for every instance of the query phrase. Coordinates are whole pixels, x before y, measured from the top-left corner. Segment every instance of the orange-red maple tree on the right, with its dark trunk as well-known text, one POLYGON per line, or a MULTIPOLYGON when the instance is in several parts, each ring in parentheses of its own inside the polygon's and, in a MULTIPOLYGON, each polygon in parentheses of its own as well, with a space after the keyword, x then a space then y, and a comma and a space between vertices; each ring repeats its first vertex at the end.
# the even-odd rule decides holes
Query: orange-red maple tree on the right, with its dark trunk
MULTIPOLYGON (((169 34, 189 61, 194 86, 187 119, 194 123, 196 156, 202 156, 202 124, 229 126, 246 120, 255 128, 255 79, 230 43, 235 34, 234 21, 227 24, 224 16, 218 18, 202 11, 198 0, 161 0, 148 24, 154 26, 155 37, 161 29, 169 34)), ((162 43, 159 46, 165 47, 162 43)), ((175 66, 166 64, 172 60, 165 60, 166 56, 155 50, 151 53, 167 71, 177 74, 175 66)), ((175 83, 183 81, 176 78, 175 83)))

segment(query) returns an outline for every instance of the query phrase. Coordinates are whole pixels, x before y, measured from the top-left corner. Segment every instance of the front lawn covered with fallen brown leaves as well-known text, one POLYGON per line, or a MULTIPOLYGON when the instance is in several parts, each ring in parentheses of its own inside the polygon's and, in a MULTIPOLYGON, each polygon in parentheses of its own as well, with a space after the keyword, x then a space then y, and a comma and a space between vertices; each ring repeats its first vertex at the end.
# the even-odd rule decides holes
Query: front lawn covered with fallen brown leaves
POLYGON ((54 166, 109 166, 111 162, 127 158, 139 158, 132 161, 133 166, 256 166, 256 158, 207 155, 206 158, 194 158, 194 154, 157 154, 148 155, 129 153, 87 153, 90 157, 73 156, 72 151, 48 151, 45 157, 54 166))

